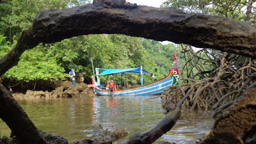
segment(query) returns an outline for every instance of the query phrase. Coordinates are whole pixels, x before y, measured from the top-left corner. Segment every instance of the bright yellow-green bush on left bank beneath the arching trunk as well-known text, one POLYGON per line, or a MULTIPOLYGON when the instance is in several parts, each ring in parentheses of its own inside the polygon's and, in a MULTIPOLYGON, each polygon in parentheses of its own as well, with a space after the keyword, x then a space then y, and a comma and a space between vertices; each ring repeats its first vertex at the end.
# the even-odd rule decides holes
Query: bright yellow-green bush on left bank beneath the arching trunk
POLYGON ((18 65, 8 70, 3 78, 16 79, 18 81, 35 81, 38 79, 59 80, 68 77, 64 68, 51 54, 44 54, 41 47, 25 51, 20 57, 18 65))

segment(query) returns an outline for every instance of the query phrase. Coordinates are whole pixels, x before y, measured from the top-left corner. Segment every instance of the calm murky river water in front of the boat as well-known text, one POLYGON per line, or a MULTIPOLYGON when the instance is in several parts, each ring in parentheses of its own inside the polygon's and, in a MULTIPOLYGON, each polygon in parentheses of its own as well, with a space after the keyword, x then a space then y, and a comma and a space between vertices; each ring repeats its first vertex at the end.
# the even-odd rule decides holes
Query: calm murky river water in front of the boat
MULTIPOLYGON (((38 129, 57 134, 69 142, 89 138, 83 130, 92 125, 115 125, 129 132, 125 140, 134 134, 147 131, 164 118, 160 98, 152 96, 85 97, 75 99, 18 99, 20 106, 38 129)), ((171 131, 155 143, 195 143, 209 131, 214 120, 211 112, 182 110, 180 119, 171 131)), ((10 129, 0 120, 1 136, 10 136, 10 129)))

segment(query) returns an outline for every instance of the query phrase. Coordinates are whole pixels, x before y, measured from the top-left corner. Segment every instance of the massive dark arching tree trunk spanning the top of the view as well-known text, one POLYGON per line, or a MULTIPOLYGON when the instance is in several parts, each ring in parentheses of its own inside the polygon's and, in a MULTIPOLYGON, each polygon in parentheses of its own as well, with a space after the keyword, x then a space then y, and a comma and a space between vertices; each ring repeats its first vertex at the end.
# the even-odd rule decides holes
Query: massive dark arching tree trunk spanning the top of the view
POLYGON ((26 49, 32 49, 40 42, 54 43, 72 36, 100 33, 169 40, 256 58, 256 29, 246 22, 184 13, 175 8, 126 3, 115 8, 106 7, 88 4, 38 13, 33 26, 23 31, 17 45, 1 58, 0 76, 17 64, 26 49))

